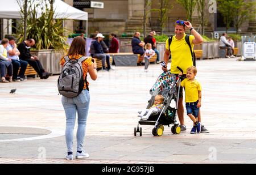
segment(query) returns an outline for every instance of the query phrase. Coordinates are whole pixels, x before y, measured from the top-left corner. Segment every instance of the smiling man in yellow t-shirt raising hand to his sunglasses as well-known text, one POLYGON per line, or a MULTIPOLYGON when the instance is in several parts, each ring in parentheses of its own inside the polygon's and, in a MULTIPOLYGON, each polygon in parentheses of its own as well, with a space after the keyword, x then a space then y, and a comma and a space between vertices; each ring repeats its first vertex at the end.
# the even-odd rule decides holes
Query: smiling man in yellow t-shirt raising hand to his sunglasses
MULTIPOLYGON (((175 23, 175 36, 172 37, 172 42, 169 48, 168 39, 166 40, 166 50, 164 52, 164 63, 166 66, 162 67, 163 71, 167 70, 167 64, 169 61, 169 56, 171 53, 171 73, 176 74, 178 76, 179 70, 177 66, 179 66, 183 71, 185 78, 186 70, 188 67, 193 66, 192 56, 190 48, 185 41, 185 30, 189 29, 191 34, 189 36, 189 42, 191 44, 191 48, 193 50, 194 45, 199 45, 203 42, 203 37, 192 27, 190 22, 185 22, 184 20, 177 20, 175 23), (171 51, 170 51, 171 50, 171 51)), ((185 123, 184 123, 184 107, 183 107, 183 91, 182 87, 180 88, 180 95, 179 95, 179 104, 177 109, 177 115, 179 117, 181 131, 185 131, 185 123)), ((199 112, 199 121, 201 121, 201 116, 199 112)), ((202 133, 208 133, 208 130, 202 126, 201 129, 202 133)))

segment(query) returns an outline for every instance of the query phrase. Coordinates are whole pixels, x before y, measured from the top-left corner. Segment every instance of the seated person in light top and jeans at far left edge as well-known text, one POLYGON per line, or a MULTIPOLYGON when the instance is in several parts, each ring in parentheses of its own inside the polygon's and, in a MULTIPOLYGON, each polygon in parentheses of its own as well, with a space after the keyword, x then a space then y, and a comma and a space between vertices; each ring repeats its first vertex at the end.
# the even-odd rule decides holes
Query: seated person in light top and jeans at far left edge
POLYGON ((7 76, 9 78, 9 82, 13 82, 13 64, 11 63, 11 58, 7 58, 7 50, 6 47, 8 45, 9 40, 3 39, 0 45, 0 63, 1 63, 1 80, 3 83, 7 83, 6 80, 6 68, 7 68, 7 76))

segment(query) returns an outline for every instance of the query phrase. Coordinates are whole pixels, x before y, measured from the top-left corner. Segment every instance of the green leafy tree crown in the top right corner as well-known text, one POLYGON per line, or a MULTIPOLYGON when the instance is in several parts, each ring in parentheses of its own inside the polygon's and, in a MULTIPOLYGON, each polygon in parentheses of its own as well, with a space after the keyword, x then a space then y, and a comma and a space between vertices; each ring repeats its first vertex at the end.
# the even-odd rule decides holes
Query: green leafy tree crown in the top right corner
POLYGON ((241 27, 243 22, 246 20, 253 19, 255 17, 256 2, 244 2, 243 0, 234 0, 234 27, 236 28, 236 33, 241 27))

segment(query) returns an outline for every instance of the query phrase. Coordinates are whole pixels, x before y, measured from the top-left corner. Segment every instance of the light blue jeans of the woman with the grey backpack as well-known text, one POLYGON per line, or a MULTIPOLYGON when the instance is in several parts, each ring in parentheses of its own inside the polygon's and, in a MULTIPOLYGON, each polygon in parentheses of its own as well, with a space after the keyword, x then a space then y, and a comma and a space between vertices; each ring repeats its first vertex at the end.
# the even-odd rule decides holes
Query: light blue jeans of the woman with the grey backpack
POLYGON ((86 119, 90 104, 89 91, 84 89, 79 96, 73 98, 62 96, 61 103, 63 104, 66 114, 65 138, 68 152, 73 152, 73 131, 76 122, 76 112, 78 115, 78 127, 76 133, 77 151, 82 151, 82 143, 84 142, 86 129, 86 119))

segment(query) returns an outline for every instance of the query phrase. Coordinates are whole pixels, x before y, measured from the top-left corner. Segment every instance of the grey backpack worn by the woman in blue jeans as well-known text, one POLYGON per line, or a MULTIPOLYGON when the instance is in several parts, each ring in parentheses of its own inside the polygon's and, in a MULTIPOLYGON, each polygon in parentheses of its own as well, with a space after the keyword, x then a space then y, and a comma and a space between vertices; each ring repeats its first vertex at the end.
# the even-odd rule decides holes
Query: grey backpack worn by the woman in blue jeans
POLYGON ((58 90, 61 95, 69 98, 78 96, 84 88, 84 83, 86 83, 86 89, 89 91, 87 75, 84 79, 82 70, 82 62, 87 58, 69 59, 68 56, 64 57, 65 63, 58 79, 58 90))

